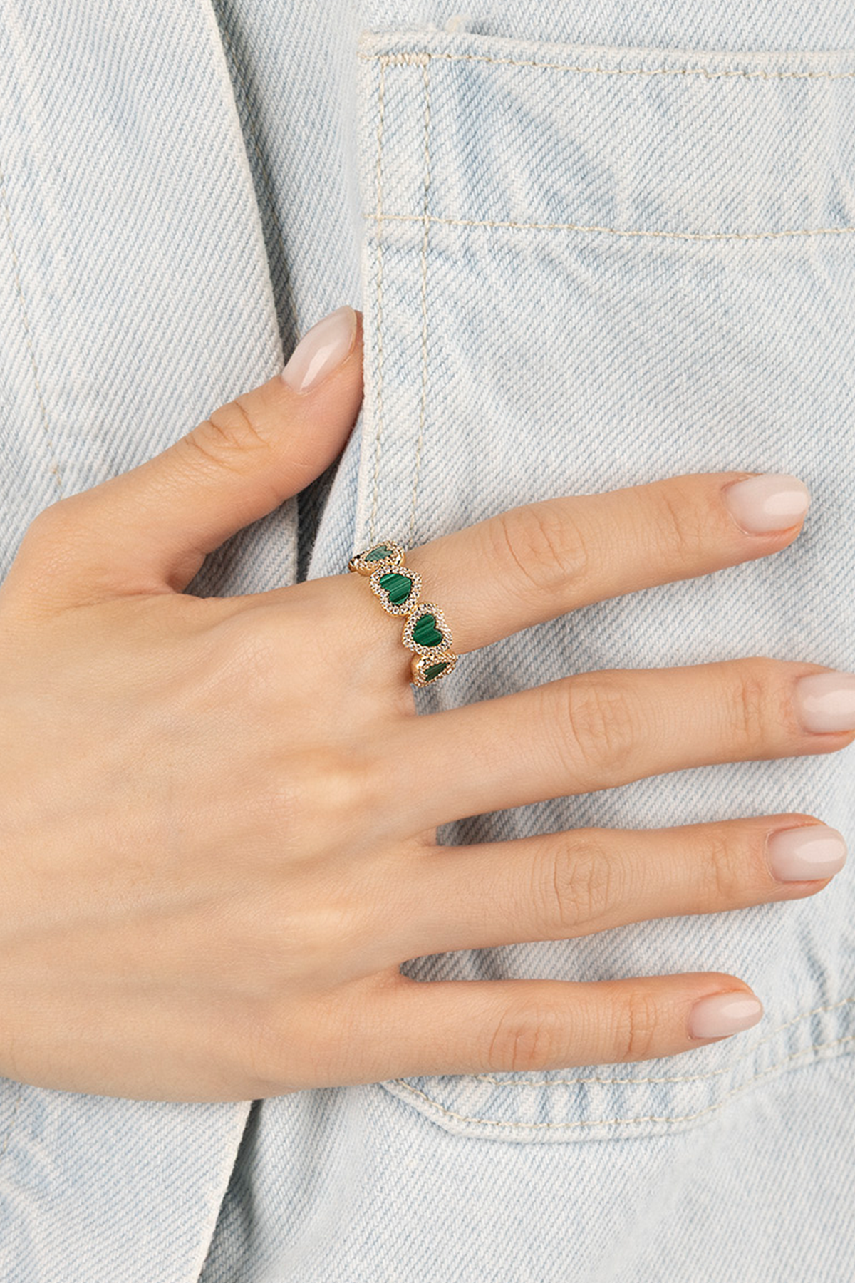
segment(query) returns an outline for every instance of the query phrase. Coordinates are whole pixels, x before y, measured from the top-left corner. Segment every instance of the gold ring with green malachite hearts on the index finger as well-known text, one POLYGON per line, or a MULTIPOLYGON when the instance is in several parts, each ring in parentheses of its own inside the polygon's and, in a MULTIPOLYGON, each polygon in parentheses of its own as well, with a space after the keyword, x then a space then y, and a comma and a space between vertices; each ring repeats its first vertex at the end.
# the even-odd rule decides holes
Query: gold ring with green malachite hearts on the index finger
POLYGON ((422 576, 404 565, 405 550, 383 539, 347 562, 347 570, 365 575, 372 591, 388 615, 404 616, 401 642, 415 654, 410 659, 414 686, 432 686, 447 677, 458 662, 451 650, 451 629, 438 606, 419 602, 422 576))

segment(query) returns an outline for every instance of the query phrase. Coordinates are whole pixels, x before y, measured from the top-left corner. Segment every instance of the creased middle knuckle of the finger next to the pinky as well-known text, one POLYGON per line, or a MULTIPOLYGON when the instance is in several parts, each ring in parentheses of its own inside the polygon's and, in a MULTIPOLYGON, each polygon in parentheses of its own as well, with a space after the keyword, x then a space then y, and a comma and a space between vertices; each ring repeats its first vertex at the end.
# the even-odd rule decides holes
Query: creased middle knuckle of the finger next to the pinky
POLYGON ((617 870, 596 838, 567 835, 545 852, 533 902, 540 903, 544 939, 581 934, 620 899, 617 870))

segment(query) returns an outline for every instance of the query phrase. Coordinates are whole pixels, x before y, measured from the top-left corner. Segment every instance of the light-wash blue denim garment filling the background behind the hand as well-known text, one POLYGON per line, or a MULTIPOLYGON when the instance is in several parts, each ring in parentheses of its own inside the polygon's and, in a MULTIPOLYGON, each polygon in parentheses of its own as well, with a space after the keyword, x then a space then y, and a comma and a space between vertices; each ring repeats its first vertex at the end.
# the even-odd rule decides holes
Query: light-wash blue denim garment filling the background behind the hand
MULTIPOLYGON (((792 548, 468 654, 419 712, 600 667, 855 668, 851 0, 5 0, 0 68, 0 570, 36 512, 351 303, 341 461, 192 591, 550 495, 793 472, 814 503, 792 548)), ((440 837, 793 810, 851 842, 854 766, 685 771, 440 837)), ((715 970, 764 1002, 664 1060, 254 1105, 3 1080, 0 1279, 851 1283, 854 924, 847 866, 791 903, 405 965, 715 970)))

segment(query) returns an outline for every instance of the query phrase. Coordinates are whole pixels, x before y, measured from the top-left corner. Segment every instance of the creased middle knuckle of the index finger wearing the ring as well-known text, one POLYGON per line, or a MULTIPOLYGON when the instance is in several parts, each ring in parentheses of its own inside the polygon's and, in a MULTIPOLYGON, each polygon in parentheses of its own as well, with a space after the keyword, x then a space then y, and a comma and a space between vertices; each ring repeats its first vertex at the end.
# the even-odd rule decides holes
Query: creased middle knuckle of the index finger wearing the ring
POLYGON ((588 553, 582 532, 554 503, 510 508, 490 529, 499 565, 513 572, 517 589, 541 598, 586 579, 588 553))

